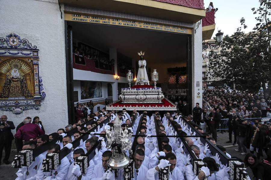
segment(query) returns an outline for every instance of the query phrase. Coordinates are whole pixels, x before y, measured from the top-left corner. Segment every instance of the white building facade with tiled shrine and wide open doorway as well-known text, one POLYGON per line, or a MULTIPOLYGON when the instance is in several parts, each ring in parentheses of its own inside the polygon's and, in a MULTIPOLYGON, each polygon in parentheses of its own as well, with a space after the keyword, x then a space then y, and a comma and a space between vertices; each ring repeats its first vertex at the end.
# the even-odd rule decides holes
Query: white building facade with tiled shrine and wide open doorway
POLYGON ((0 112, 15 125, 39 116, 52 133, 73 122, 78 102, 93 101, 97 111, 105 99, 117 101, 120 88, 129 87, 128 70, 136 82, 140 51, 150 85, 157 70, 168 99, 201 104, 203 0, 3 0, 0 6, 0 112))

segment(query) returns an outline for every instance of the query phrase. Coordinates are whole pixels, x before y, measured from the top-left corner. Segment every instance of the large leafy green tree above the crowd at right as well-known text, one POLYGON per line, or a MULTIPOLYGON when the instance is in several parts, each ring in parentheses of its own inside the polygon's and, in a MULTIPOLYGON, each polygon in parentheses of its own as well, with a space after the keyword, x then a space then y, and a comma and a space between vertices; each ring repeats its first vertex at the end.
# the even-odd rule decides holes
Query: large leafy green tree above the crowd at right
POLYGON ((271 1, 259 2, 259 8, 252 8, 258 22, 254 32, 242 31, 247 26, 241 18, 237 31, 223 38, 221 50, 209 53, 208 75, 234 83, 237 90, 257 92, 262 87, 266 98, 271 96, 271 1))

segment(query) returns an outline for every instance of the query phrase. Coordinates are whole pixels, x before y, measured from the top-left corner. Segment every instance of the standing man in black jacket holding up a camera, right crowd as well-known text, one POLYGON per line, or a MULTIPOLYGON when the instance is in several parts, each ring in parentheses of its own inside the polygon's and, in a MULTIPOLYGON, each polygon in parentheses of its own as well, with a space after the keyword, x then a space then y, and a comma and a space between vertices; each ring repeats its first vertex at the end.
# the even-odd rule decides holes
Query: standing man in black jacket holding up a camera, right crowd
POLYGON ((242 119, 236 119, 235 122, 237 125, 236 138, 237 138, 237 144, 238 144, 238 149, 235 149, 235 151, 242 152, 241 155, 246 155, 247 149, 245 146, 245 137, 246 137, 248 122, 242 119))

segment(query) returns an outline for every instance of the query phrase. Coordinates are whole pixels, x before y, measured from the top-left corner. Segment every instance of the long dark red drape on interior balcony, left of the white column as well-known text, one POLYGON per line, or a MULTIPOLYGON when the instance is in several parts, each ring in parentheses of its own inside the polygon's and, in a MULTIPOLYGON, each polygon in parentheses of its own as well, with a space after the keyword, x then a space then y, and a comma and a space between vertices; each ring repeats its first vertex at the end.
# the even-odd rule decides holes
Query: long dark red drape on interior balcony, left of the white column
POLYGON ((92 59, 83 57, 81 55, 76 55, 76 54, 73 54, 73 68, 80 69, 80 70, 88 70, 95 73, 115 75, 114 66, 112 65, 109 66, 108 64, 101 64, 101 63, 99 64, 99 62, 95 62, 92 59), (95 64, 96 64, 96 67, 95 67, 95 64), (97 68, 97 65, 103 69, 97 68))

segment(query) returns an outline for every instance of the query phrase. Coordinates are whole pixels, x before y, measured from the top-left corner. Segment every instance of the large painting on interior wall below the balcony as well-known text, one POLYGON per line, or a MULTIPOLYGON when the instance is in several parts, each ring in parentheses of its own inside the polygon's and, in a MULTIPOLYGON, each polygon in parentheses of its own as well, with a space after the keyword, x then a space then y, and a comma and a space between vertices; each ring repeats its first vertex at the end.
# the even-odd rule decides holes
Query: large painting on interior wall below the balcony
POLYGON ((102 98, 102 83, 81 81, 81 99, 102 98))

